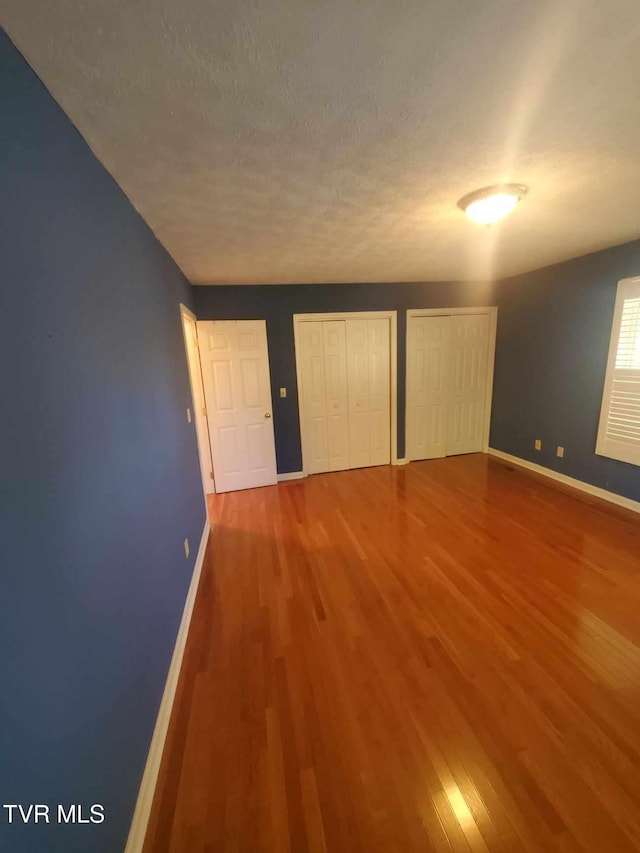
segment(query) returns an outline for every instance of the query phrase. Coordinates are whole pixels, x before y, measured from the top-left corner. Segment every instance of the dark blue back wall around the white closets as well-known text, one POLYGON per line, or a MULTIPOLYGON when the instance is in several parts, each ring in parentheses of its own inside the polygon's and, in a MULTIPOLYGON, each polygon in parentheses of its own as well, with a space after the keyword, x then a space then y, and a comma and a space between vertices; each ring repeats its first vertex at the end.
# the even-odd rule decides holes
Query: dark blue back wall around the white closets
POLYGON ((331 311, 398 311, 398 456, 405 451, 406 309, 493 305, 491 285, 283 284, 196 287, 199 320, 266 320, 280 474, 302 469, 293 315, 331 311), (281 399, 278 389, 287 389, 281 399))

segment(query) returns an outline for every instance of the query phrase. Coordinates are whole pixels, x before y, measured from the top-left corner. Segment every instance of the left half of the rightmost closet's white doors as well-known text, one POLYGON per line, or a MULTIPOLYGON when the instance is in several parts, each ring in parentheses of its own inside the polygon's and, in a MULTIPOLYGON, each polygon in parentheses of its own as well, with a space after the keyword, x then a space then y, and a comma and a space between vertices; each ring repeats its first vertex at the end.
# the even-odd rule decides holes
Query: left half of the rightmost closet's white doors
POLYGON ((407 359, 407 451, 410 459, 447 452, 449 317, 410 317, 407 359))

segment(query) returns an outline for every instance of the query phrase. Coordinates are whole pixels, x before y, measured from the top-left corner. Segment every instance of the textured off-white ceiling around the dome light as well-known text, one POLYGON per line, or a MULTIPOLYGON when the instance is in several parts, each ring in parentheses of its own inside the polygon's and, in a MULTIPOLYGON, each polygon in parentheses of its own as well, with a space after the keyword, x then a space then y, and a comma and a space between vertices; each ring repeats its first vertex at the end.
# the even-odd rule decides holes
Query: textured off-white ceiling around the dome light
POLYGON ((506 276, 640 236, 639 0, 0 0, 194 283, 506 276), (456 208, 529 194, 487 229, 456 208))

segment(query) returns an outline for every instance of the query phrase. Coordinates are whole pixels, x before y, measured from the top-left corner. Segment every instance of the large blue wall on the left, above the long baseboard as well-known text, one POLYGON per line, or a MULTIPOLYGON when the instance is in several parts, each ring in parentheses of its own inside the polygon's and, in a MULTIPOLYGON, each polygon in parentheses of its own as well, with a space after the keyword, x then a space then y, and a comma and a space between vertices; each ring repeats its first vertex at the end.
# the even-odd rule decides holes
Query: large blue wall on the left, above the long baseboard
POLYGON ((205 517, 191 288, 2 32, 0 101, 0 803, 106 813, 0 849, 113 853, 205 517))

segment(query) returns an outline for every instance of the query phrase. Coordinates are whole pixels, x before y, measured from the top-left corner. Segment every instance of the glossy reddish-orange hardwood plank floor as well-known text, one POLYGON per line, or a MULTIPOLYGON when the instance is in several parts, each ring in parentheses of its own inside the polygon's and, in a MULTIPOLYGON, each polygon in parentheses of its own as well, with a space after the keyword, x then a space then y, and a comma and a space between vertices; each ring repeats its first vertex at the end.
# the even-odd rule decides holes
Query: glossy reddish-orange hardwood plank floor
POLYGON ((640 517, 483 455, 212 496, 146 853, 640 850, 640 517))

